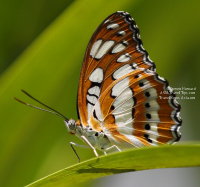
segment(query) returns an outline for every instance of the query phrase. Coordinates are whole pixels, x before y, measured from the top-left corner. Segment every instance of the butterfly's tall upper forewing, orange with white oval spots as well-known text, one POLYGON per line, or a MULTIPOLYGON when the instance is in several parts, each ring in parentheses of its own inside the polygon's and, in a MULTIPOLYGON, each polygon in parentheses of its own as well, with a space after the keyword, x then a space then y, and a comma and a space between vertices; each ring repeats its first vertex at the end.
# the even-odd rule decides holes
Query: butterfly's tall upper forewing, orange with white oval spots
MULTIPOLYGON (((155 64, 142 47, 135 21, 128 13, 116 12, 100 24, 86 49, 80 75, 77 107, 84 126, 88 125, 93 106, 104 87, 112 82, 109 76, 124 64, 155 69, 155 64)), ((99 124, 96 123, 97 128, 100 130, 99 124)))

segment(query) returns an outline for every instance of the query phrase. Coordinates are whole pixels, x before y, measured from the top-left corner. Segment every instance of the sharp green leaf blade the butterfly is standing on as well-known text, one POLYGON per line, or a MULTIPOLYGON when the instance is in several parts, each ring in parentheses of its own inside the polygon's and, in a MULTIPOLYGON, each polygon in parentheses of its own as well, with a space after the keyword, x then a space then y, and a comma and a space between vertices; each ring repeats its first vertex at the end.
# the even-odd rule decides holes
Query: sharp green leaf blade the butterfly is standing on
POLYGON ((132 149, 81 162, 26 187, 67 187, 117 173, 200 166, 199 156, 200 145, 132 149))

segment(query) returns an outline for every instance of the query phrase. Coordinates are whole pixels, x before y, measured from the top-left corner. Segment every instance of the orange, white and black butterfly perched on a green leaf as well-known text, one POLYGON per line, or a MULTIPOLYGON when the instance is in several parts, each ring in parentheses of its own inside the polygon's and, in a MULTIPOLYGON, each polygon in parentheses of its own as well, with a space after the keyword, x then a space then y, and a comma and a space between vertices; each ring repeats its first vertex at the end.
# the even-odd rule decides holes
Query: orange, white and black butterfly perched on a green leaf
POLYGON ((56 110, 72 135, 104 154, 111 149, 173 144, 180 140, 180 105, 168 81, 156 73, 155 63, 142 46, 138 26, 123 11, 108 16, 87 46, 77 94, 78 120, 56 110))

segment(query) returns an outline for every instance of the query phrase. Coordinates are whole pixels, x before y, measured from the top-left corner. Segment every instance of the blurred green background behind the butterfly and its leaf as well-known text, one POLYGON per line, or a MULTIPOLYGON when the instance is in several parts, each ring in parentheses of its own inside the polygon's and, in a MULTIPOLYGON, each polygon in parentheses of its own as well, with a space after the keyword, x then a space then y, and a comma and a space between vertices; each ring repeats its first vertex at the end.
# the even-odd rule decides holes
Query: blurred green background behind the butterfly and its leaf
MULTIPOLYGON (((76 94, 87 43, 101 21, 117 10, 136 20, 157 72, 172 87, 196 87, 195 99, 178 100, 183 119, 180 143, 200 140, 199 8, 196 0, 0 0, 0 186, 24 186, 77 163, 69 142, 81 141, 67 132, 63 121, 12 97, 37 105, 20 92, 24 89, 77 119, 76 94)), ((89 149, 77 151, 82 160, 94 156, 89 149)), ((143 171, 80 186, 117 187, 124 181, 127 186, 198 186, 198 172, 199 168, 143 171)))

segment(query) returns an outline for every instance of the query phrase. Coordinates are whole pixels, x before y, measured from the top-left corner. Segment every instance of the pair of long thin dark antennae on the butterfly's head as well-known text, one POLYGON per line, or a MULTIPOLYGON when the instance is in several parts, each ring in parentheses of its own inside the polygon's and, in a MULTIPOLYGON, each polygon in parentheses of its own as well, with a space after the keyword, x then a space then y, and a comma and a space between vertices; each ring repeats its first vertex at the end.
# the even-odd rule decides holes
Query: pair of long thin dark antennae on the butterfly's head
POLYGON ((49 113, 55 114, 55 115, 57 115, 57 116, 59 116, 59 117, 65 119, 66 121, 69 121, 69 119, 66 118, 66 117, 65 117, 63 114, 61 114, 60 112, 58 112, 58 111, 54 110, 53 108, 51 108, 51 107, 45 105, 44 103, 38 101, 38 100, 35 99, 33 96, 31 96, 30 94, 28 94, 26 91, 24 91, 24 90, 21 90, 21 91, 22 91, 23 93, 25 93, 27 96, 29 96, 31 99, 35 100, 36 102, 40 103, 41 105, 45 106, 46 108, 52 110, 53 112, 52 112, 52 111, 49 111, 49 110, 45 110, 45 109, 43 109, 43 108, 39 108, 39 107, 30 105, 30 104, 25 103, 25 102, 23 102, 23 101, 21 101, 21 100, 15 98, 15 97, 14 97, 13 99, 15 99, 16 101, 18 101, 18 102, 20 102, 20 103, 22 103, 22 104, 24 104, 24 105, 30 106, 30 107, 32 107, 32 108, 36 108, 36 109, 38 109, 38 110, 42 110, 42 111, 45 111, 45 112, 49 112, 49 113))

